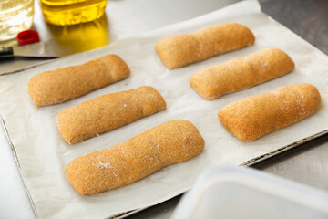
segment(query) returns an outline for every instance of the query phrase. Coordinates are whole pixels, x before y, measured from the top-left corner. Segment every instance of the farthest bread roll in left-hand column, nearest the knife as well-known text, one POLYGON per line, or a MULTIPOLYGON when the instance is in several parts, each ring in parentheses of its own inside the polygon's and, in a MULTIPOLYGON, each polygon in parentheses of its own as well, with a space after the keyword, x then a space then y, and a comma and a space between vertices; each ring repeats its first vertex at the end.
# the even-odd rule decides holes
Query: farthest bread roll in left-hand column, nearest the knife
POLYGON ((75 99, 123 78, 127 64, 116 55, 108 55, 80 66, 58 68, 35 75, 28 81, 28 93, 37 107, 75 99))

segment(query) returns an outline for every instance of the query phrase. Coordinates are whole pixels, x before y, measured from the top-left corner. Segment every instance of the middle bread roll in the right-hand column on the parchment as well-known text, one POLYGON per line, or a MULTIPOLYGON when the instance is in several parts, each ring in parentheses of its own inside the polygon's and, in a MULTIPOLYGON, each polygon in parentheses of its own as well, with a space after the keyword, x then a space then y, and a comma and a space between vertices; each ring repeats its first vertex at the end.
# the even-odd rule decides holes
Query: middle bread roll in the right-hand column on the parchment
POLYGON ((190 85, 205 99, 248 89, 295 68, 292 58, 278 48, 266 48, 246 57, 232 59, 201 69, 190 78, 190 85))

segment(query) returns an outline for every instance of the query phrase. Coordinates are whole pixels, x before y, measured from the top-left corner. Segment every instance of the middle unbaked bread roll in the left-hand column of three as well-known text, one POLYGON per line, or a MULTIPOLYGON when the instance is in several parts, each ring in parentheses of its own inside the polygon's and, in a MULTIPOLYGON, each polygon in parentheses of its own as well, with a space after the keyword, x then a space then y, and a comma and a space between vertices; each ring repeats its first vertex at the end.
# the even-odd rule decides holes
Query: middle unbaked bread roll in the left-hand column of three
POLYGON ((77 143, 166 109, 156 89, 140 87, 88 100, 57 115, 60 135, 77 143))

